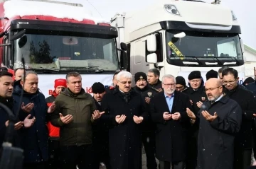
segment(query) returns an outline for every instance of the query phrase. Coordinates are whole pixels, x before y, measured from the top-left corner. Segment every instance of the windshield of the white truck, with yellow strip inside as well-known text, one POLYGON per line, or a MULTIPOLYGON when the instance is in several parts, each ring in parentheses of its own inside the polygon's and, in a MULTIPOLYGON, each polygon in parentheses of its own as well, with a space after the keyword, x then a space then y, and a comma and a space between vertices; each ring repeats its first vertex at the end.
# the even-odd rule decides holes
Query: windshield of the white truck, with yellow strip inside
POLYGON ((182 31, 166 31, 166 56, 169 64, 183 66, 183 62, 197 62, 193 66, 223 66, 225 62, 243 64, 238 34, 184 31, 185 37, 174 37, 182 31), (179 60, 179 61, 178 61, 179 60), (208 65, 209 66, 209 65, 208 65))

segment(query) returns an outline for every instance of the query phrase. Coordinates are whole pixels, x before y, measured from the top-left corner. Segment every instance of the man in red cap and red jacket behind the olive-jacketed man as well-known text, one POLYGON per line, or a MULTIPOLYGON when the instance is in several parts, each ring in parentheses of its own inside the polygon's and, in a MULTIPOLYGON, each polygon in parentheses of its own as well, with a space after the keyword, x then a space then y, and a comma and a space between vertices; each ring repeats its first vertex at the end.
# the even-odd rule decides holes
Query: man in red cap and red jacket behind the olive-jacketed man
MULTIPOLYGON (((55 98, 60 93, 63 88, 67 87, 67 82, 63 78, 55 80, 54 91, 51 96, 46 98, 46 103, 48 107, 54 103, 55 98)), ((48 114, 50 116, 50 114, 48 114)), ((59 139, 60 139, 60 128, 54 127, 50 122, 47 123, 49 131, 49 166, 48 168, 58 169, 59 166, 59 139)))

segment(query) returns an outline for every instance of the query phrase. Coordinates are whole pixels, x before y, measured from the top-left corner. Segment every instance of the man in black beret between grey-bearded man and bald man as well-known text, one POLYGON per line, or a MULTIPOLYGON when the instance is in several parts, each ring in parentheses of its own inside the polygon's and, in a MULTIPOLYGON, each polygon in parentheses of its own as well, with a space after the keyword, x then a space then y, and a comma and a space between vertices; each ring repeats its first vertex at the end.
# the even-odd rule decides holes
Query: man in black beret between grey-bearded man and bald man
MULTIPOLYGON (((188 75, 187 90, 182 91, 188 94, 192 104, 192 111, 198 112, 204 101, 207 100, 206 91, 204 90, 204 81, 201 76, 201 71, 191 71, 188 75)), ((198 138, 198 124, 191 124, 189 129, 189 145, 188 145, 188 161, 186 169, 196 169, 197 158, 197 138, 198 138)))

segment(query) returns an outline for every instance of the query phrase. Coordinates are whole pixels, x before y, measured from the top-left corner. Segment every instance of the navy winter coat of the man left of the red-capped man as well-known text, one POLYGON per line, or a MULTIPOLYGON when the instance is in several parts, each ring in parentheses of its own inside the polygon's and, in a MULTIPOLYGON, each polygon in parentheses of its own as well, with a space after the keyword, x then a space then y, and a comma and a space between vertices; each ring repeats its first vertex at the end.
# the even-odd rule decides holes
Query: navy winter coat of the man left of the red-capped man
POLYGON ((36 93, 23 91, 22 102, 24 105, 34 103, 31 112, 23 112, 21 107, 18 107, 20 106, 18 103, 23 89, 19 83, 16 83, 14 88, 16 88, 13 93, 14 110, 20 110, 18 115, 19 120, 23 121, 29 114, 31 114, 31 118, 36 117, 36 122, 32 127, 21 130, 21 146, 24 150, 24 163, 48 161, 48 129, 46 127, 48 107, 46 105, 46 98, 39 90, 36 93))

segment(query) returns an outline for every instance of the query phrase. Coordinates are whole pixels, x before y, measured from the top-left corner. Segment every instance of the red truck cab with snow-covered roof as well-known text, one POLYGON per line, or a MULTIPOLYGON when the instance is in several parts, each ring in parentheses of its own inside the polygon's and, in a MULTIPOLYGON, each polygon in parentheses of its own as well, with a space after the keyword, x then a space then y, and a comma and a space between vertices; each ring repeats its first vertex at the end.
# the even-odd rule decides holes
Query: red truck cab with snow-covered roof
POLYGON ((36 71, 39 88, 50 95, 56 78, 78 71, 83 88, 112 82, 121 69, 117 28, 90 15, 80 4, 58 1, 4 1, 0 4, 0 61, 9 69, 36 71))

